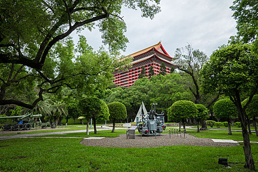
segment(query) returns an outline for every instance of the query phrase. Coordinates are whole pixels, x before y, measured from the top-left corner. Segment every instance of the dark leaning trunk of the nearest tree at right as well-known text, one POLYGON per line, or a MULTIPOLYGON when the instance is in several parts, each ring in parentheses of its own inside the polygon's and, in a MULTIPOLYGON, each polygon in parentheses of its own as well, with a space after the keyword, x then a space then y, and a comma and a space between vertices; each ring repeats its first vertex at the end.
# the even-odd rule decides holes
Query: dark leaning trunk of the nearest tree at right
MULTIPOLYGON (((230 97, 231 99, 231 97, 230 97)), ((244 110, 242 109, 241 105, 241 99, 239 92, 236 92, 236 100, 234 101, 237 111, 238 111, 238 118, 241 122, 241 128, 242 128, 242 135, 243 135, 243 141, 244 141, 244 153, 245 153, 245 168, 249 170, 255 171, 255 163, 254 158, 252 156, 251 152, 251 145, 250 145, 250 139, 247 131, 246 121, 245 121, 245 114, 244 110)))

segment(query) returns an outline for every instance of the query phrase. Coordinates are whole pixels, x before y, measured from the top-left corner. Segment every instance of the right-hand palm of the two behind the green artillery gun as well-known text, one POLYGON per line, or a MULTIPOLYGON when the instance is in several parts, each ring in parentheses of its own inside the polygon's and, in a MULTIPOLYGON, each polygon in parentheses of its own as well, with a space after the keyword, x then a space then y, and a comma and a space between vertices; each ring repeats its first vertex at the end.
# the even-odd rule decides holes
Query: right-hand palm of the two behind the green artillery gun
POLYGON ((61 117, 62 115, 67 116, 68 115, 68 111, 66 109, 66 104, 64 102, 53 102, 52 106, 50 107, 50 111, 53 113, 53 115, 56 117, 56 124, 59 120, 59 125, 61 124, 61 117))

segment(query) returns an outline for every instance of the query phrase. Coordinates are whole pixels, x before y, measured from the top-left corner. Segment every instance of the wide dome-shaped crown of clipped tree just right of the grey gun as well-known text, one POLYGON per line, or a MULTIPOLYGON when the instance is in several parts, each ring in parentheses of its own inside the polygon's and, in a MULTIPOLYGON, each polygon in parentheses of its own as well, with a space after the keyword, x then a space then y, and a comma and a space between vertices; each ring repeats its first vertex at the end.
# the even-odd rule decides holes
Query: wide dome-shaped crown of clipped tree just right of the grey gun
POLYGON ((180 100, 174 102, 172 106, 169 108, 168 117, 169 120, 180 120, 183 121, 187 118, 195 118, 197 117, 197 107, 191 101, 180 100))

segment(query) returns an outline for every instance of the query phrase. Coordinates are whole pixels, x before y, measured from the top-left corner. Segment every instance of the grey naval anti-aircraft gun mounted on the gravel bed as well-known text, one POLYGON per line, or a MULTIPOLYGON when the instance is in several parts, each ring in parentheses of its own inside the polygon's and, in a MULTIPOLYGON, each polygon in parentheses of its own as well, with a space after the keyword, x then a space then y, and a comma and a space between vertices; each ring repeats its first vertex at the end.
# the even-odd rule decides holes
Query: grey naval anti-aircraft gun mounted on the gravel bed
POLYGON ((164 111, 161 114, 156 113, 157 103, 153 103, 150 112, 143 114, 142 117, 136 117, 138 131, 146 136, 159 136, 166 129, 164 121, 164 111), (154 106, 154 108, 153 108, 154 106))

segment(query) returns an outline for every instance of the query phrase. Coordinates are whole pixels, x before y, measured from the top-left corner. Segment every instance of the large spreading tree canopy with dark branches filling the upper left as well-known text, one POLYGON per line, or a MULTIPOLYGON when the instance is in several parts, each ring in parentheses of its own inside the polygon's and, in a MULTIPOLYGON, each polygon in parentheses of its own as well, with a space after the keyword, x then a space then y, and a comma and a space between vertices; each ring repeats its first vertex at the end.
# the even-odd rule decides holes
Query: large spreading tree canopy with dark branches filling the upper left
MULTIPOLYGON (((44 92, 56 92, 63 85, 78 87, 77 84, 71 86, 67 79, 76 80, 79 84, 85 80, 90 83, 95 81, 91 76, 102 74, 102 80, 107 80, 103 77, 103 71, 112 68, 111 63, 106 63, 108 53, 86 49, 89 54, 75 59, 71 53, 74 51, 73 43, 61 40, 74 30, 91 30, 97 26, 102 33, 103 43, 109 45, 111 55, 115 56, 118 50, 125 50, 128 42, 124 36, 125 22, 119 16, 122 6, 140 8, 143 17, 152 19, 160 11, 157 6, 159 1, 0 1, 0 105, 16 104, 32 109, 43 99, 44 92), (92 66, 102 66, 102 69, 92 72, 92 66), (80 75, 84 75, 84 79, 80 75), (12 91, 8 93, 11 89, 16 91, 15 96, 12 91), (33 96, 32 90, 38 95, 33 96), (29 91, 32 92, 31 97, 24 94, 29 91)), ((115 60, 111 61, 113 63, 115 60)), ((111 81, 111 78, 108 80, 111 81)))

